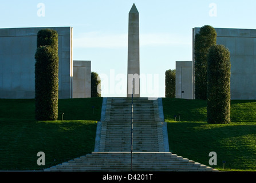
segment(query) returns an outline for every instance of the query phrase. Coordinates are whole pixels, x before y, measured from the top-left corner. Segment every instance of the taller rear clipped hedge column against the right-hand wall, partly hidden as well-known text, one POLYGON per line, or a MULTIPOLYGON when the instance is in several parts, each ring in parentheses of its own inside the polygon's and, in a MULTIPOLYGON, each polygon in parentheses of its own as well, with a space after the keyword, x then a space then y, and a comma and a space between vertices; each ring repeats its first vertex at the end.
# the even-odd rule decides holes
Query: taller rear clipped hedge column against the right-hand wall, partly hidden
POLYGON ((207 54, 211 46, 216 45, 214 27, 205 25, 195 35, 195 98, 207 98, 207 54))

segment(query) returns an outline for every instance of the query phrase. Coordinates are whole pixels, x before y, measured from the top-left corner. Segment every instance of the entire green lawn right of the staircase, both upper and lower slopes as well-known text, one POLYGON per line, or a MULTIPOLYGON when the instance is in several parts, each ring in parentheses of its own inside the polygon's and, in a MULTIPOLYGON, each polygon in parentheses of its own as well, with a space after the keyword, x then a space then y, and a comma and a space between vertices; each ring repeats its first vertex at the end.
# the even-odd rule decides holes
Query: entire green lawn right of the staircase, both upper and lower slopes
POLYGON ((207 124, 206 101, 163 98, 170 151, 223 170, 256 171, 256 101, 231 101, 230 124, 207 124), (176 116, 176 121, 175 121, 176 116))

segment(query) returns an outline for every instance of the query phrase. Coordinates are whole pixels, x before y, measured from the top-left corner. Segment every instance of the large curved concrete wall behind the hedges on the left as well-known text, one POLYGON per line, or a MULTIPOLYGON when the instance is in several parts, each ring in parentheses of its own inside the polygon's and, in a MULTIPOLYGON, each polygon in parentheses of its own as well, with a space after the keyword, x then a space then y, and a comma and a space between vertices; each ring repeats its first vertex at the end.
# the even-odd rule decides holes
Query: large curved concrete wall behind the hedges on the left
POLYGON ((72 98, 72 27, 0 29, 0 98, 34 98, 37 33, 46 28, 58 33, 59 98, 72 98))

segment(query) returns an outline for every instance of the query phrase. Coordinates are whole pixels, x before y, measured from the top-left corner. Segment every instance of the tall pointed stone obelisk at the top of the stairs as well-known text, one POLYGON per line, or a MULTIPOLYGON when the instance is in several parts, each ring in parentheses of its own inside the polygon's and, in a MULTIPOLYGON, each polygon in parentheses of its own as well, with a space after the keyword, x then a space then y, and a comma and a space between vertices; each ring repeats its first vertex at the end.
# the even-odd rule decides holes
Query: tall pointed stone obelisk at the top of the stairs
POLYGON ((133 3, 129 11, 127 97, 140 97, 139 11, 133 3))

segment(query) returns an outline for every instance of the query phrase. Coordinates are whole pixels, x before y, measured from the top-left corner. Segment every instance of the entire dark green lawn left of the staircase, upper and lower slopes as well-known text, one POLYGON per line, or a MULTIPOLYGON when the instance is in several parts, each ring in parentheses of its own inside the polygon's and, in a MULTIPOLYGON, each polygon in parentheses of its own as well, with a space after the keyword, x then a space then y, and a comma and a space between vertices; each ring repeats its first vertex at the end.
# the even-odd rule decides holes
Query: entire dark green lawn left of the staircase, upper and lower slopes
POLYGON ((34 100, 0 99, 0 170, 44 169, 91 153, 101 104, 102 98, 59 100, 59 121, 36 121, 34 100), (37 165, 38 152, 45 166, 37 165))

